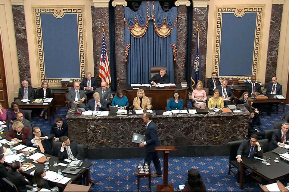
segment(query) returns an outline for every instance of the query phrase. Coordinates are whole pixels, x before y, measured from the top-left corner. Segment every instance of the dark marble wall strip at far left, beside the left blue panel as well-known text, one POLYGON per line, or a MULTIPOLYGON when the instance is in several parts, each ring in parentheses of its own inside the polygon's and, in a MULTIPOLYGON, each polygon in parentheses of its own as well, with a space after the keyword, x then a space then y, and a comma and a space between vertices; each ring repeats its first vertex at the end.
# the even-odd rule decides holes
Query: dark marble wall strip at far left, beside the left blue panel
POLYGON ((23 5, 12 5, 20 82, 31 83, 26 24, 23 5))

